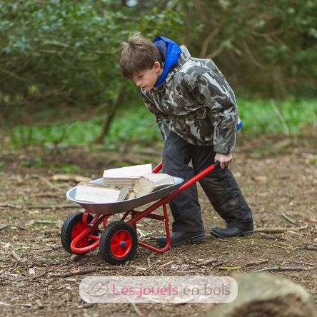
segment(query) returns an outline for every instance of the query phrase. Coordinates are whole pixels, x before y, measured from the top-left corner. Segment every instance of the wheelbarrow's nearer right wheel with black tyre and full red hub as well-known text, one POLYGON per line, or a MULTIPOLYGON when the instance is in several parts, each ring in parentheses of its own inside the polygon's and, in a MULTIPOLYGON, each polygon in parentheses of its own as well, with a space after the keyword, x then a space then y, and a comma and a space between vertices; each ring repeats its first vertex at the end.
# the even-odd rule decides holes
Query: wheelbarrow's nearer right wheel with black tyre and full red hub
POLYGON ((107 263, 119 265, 133 258, 137 246, 134 227, 124 221, 114 221, 102 231, 99 251, 107 263))

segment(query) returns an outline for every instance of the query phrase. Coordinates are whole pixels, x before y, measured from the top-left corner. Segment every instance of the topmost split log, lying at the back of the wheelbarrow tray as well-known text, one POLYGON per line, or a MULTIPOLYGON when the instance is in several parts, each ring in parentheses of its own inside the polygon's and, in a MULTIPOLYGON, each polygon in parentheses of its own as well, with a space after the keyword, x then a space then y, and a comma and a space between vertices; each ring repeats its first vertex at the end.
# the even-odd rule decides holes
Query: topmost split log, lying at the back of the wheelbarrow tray
POLYGON ((106 169, 104 171, 104 185, 131 189, 135 181, 151 171, 152 164, 106 169))

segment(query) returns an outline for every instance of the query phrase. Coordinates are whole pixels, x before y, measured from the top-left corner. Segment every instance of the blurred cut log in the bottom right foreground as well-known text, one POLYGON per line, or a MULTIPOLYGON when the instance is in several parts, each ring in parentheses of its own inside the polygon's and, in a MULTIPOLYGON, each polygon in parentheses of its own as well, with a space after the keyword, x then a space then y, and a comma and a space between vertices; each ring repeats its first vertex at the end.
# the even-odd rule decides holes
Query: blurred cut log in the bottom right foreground
POLYGON ((317 317, 308 291, 281 275, 245 273, 232 277, 238 283, 236 300, 211 307, 207 317, 317 317))

